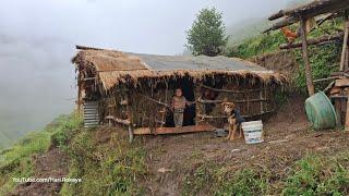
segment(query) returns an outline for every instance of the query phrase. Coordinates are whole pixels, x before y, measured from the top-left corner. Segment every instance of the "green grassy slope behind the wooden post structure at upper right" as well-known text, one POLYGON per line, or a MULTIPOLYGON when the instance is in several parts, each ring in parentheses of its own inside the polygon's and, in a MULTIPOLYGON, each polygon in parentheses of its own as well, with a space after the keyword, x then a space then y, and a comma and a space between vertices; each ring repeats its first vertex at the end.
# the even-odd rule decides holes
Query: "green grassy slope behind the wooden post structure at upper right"
MULTIPOLYGON (((334 27, 342 27, 342 21, 336 20, 335 22, 328 21, 325 22, 321 28, 313 30, 309 37, 317 37, 324 35, 325 32, 336 33, 334 27)), ((292 26, 296 29, 296 26, 292 26)), ((299 41, 299 40, 297 40, 299 41)), ((286 39, 280 32, 273 32, 269 35, 260 35, 253 38, 249 38, 243 42, 230 44, 227 47, 226 56, 229 57, 239 57, 242 59, 249 59, 255 56, 263 56, 269 52, 279 51, 279 45, 285 44, 286 39)), ((312 64, 313 78, 323 78, 327 77, 330 72, 337 71, 339 68, 339 57, 340 57, 341 44, 332 42, 323 46, 311 46, 309 47, 310 61, 312 64)), ((302 62, 300 49, 293 49, 292 52, 298 60, 300 65, 300 72, 297 74, 296 81, 297 87, 304 90, 305 86, 305 75, 304 75, 304 65, 302 62)), ((323 83, 316 86, 317 90, 323 89, 327 84, 323 83)))

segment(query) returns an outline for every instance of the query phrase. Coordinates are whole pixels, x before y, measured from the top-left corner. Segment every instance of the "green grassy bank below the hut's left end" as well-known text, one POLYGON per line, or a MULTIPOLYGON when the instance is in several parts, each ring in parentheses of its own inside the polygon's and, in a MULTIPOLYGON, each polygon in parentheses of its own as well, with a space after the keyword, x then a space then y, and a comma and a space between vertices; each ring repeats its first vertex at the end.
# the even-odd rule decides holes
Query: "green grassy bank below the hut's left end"
POLYGON ((147 175, 147 166, 140 142, 130 144, 118 132, 111 133, 110 142, 98 144, 95 134, 96 130, 87 130, 72 139, 69 176, 81 177, 82 183, 65 183, 61 195, 142 195, 145 188, 137 182, 147 175))

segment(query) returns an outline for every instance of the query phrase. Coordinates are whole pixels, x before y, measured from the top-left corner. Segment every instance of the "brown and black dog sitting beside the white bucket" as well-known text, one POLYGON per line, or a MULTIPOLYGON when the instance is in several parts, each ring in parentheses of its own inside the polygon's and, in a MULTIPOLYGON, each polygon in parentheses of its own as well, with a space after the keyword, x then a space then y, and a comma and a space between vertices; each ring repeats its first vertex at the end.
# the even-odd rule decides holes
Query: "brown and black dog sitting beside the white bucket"
POLYGON ((226 139, 233 140, 236 138, 243 138, 242 128, 234 112, 236 105, 225 100, 221 106, 224 112, 228 115, 229 133, 226 139))

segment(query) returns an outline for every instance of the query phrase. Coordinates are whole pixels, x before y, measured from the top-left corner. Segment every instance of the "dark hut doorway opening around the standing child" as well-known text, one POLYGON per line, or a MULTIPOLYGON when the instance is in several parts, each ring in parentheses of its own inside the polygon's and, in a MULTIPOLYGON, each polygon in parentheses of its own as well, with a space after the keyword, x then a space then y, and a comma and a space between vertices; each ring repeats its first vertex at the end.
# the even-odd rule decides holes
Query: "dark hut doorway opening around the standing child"
MULTIPOLYGON (((172 93, 174 93, 177 88, 181 88, 183 96, 188 101, 195 101, 194 83, 190 78, 184 77, 184 78, 176 79, 173 82, 169 82, 169 84, 171 84, 169 86, 169 89, 172 90, 172 93)), ((195 103, 188 106, 184 109, 184 113, 183 113, 183 126, 195 125, 195 117, 196 117, 195 103)), ((174 126, 172 112, 170 112, 167 115, 165 126, 167 127, 174 126)))

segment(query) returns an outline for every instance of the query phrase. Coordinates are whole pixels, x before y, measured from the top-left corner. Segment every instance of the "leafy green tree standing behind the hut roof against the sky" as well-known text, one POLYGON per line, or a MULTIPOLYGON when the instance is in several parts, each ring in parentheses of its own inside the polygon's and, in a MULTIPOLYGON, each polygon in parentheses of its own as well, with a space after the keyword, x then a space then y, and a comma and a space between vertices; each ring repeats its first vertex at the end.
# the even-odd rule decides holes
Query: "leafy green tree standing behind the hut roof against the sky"
POLYGON ((228 37, 225 36, 226 27, 221 21, 221 13, 215 8, 203 9, 196 15, 191 29, 186 32, 186 48, 193 56, 219 54, 227 45, 228 37))

